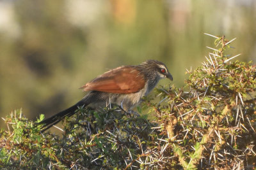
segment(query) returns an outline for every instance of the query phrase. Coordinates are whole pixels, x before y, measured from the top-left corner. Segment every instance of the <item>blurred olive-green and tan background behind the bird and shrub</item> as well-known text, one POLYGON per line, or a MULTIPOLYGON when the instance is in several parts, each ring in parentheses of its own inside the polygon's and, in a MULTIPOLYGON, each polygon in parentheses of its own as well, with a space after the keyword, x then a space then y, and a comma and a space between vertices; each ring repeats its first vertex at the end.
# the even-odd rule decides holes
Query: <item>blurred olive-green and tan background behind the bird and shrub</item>
POLYGON ((255 61, 256 1, 2 0, 0 117, 19 108, 49 117, 95 76, 147 59, 163 61, 180 87, 214 46, 204 32, 236 37, 232 55, 255 61))

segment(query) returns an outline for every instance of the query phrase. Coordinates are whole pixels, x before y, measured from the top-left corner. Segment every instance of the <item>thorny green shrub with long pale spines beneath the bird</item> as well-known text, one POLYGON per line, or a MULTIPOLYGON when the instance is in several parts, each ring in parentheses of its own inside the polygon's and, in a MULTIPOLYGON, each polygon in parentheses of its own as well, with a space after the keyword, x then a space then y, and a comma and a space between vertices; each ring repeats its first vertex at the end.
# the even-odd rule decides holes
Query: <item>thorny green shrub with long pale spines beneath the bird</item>
POLYGON ((213 37, 216 47, 187 71, 184 87, 157 89, 158 103, 145 98, 138 111, 154 121, 79 108, 58 136, 15 111, 0 131, 1 169, 255 169, 256 67, 231 62, 233 40, 213 37))

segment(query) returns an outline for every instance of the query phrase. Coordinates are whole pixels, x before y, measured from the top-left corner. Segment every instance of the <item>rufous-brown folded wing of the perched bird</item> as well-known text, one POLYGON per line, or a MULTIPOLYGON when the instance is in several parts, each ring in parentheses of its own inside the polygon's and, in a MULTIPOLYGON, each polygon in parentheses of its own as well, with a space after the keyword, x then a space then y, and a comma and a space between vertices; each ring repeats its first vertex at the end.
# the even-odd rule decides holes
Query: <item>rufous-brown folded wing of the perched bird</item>
POLYGON ((145 86, 145 78, 132 66, 121 66, 97 76, 81 87, 84 91, 100 91, 116 94, 138 92, 145 86))

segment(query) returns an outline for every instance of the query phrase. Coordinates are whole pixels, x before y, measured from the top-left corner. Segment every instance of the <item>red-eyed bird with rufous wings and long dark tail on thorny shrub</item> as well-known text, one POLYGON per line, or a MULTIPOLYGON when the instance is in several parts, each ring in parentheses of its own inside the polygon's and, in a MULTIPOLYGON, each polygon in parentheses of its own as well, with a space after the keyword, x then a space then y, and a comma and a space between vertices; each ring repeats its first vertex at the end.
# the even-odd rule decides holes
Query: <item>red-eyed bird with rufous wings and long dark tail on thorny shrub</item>
POLYGON ((147 96, 163 78, 173 80, 166 65, 158 60, 147 60, 136 66, 111 69, 80 88, 88 92, 83 99, 39 122, 42 124, 41 132, 47 131, 63 118, 71 117, 79 107, 104 108, 108 104, 116 104, 124 111, 132 111, 134 106, 141 103, 142 97, 147 96))

